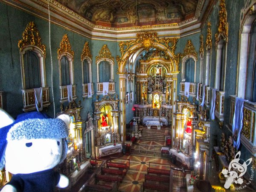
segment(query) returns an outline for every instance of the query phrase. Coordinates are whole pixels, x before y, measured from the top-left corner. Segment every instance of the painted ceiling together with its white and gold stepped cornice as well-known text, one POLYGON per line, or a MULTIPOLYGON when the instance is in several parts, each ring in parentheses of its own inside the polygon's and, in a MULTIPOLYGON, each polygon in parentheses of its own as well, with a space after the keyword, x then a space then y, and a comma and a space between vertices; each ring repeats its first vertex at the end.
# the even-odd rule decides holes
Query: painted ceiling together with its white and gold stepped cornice
POLYGON ((218 0, 1 0, 93 39, 125 40, 140 32, 181 37, 201 30, 218 0), (49 6, 49 10, 48 10, 49 6))

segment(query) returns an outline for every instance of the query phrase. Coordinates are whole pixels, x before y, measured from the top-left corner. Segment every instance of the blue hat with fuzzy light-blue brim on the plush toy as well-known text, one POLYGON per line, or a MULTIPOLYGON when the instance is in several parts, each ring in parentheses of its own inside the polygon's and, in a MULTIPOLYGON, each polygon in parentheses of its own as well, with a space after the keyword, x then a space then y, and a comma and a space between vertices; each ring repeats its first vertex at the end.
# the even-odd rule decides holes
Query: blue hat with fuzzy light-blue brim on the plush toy
POLYGON ((5 148, 8 141, 62 138, 61 163, 67 156, 67 136, 67 124, 61 119, 52 119, 40 112, 20 114, 12 124, 0 128, 0 169, 5 165, 5 148))

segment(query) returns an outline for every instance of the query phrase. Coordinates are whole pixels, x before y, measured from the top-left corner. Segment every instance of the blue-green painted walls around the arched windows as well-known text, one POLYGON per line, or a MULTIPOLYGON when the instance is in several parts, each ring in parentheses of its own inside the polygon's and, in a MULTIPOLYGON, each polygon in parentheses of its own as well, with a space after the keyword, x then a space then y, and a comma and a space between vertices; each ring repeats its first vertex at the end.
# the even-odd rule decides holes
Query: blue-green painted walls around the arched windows
MULTIPOLYGON (((239 26, 240 26, 240 10, 244 7, 244 1, 242 0, 226 0, 227 9, 227 21, 229 23, 228 43, 227 43, 227 64, 226 64, 226 86, 225 86, 225 102, 224 102, 224 125, 229 121, 230 111, 230 98, 229 95, 236 93, 236 74, 238 64, 238 45, 239 45, 239 26)), ((191 40, 196 52, 198 52, 198 61, 196 66, 196 82, 199 82, 199 70, 200 70, 200 35, 204 35, 204 44, 207 36, 207 22, 212 24, 212 55, 211 55, 211 71, 210 71, 210 87, 214 87, 215 79, 215 62, 216 62, 216 49, 215 49, 215 33, 218 31, 218 3, 213 7, 209 17, 206 18, 206 22, 203 23, 201 32, 197 32, 192 35, 181 37, 177 41, 177 49, 175 53, 183 53, 184 47, 188 40, 191 40)), ((60 96, 59 96, 59 71, 58 71, 58 58, 57 49, 60 46, 61 39, 64 34, 67 33, 72 50, 75 52, 74 56, 74 83, 77 85, 77 101, 81 100, 81 105, 84 107, 81 111, 82 119, 87 119, 87 113, 93 112, 93 101, 95 101, 95 95, 92 99, 82 98, 82 72, 81 72, 81 53, 86 41, 89 42, 89 47, 92 59, 92 81, 97 82, 96 73, 96 56, 99 55, 99 51, 104 44, 108 45, 112 56, 116 58, 116 55, 120 55, 119 42, 117 41, 101 41, 91 40, 75 32, 67 30, 61 26, 51 23, 51 47, 52 47, 52 64, 53 64, 53 79, 51 80, 51 65, 50 65, 50 52, 49 52, 49 28, 48 21, 39 17, 30 15, 26 12, 22 12, 20 9, 7 6, 4 3, 0 3, 0 91, 4 92, 3 108, 10 113, 13 117, 22 113, 23 101, 22 101, 22 82, 20 72, 20 51, 17 47, 18 41, 22 38, 22 33, 26 28, 26 25, 30 21, 34 21, 40 33, 42 44, 46 45, 46 76, 47 86, 50 87, 50 102, 53 102, 51 89, 54 91, 54 100, 56 113, 60 112, 60 96), (51 85, 53 81, 53 87, 51 85)), ((206 64, 206 51, 204 51, 204 65, 206 64)), ((181 62, 179 64, 181 70, 181 62)), ((116 74, 118 65, 114 64, 114 81, 116 82, 116 93, 119 94, 119 75, 116 74)), ((179 82, 181 80, 181 74, 178 74, 178 86, 177 93, 179 93, 179 82)), ((96 93, 96 86, 94 86, 96 93)), ((67 104, 65 104, 67 105, 67 104)), ((128 123, 133 114, 128 113, 132 110, 132 104, 126 108, 128 123)), ((53 116, 53 105, 50 105, 47 113, 53 116)), ((231 135, 226 126, 222 129, 218 125, 218 121, 211 122, 211 147, 215 141, 219 143, 221 132, 224 132, 227 136, 231 135)), ((243 151, 247 151, 243 146, 243 151)), ((246 159, 251 156, 250 153, 242 152, 242 158, 246 159)))

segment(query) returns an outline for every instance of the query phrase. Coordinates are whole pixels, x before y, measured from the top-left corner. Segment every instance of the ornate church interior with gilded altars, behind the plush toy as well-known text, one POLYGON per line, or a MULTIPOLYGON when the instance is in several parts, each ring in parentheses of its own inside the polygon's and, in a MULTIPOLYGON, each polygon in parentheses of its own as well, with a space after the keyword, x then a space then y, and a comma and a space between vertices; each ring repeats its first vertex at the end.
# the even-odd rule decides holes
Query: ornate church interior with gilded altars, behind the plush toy
MULTIPOLYGON (((71 118, 55 168, 70 186, 56 191, 256 191, 256 0, 0 0, 0 12, 0 108, 71 118)), ((0 189, 11 178, 1 170, 0 189)))

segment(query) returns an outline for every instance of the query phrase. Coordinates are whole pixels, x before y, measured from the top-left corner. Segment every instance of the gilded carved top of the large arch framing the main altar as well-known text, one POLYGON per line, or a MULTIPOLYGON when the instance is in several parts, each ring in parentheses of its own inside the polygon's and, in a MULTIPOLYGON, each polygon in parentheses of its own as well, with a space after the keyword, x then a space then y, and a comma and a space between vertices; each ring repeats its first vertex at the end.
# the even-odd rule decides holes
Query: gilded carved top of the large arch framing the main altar
POLYGON ((176 68, 178 69, 179 66, 179 61, 181 54, 177 53, 175 55, 175 49, 176 49, 176 44, 177 44, 177 38, 161 38, 159 39, 157 37, 157 33, 150 33, 150 32, 145 32, 145 33, 138 33, 137 34, 137 39, 136 40, 131 40, 131 41, 121 41, 119 43, 120 47, 120 53, 121 56, 117 55, 116 56, 116 61, 118 64, 118 71, 121 72, 122 69, 120 69, 121 65, 124 64, 128 58, 134 53, 137 52, 139 49, 143 48, 145 50, 148 50, 152 47, 156 48, 159 52, 164 52, 165 55, 168 55, 168 49, 172 53, 173 57, 169 58, 175 65, 176 68), (156 43, 158 44, 164 44, 166 49, 162 49, 160 47, 156 46, 156 43), (136 45, 136 47, 133 47, 136 45), (127 54, 125 54, 127 52, 127 54))

